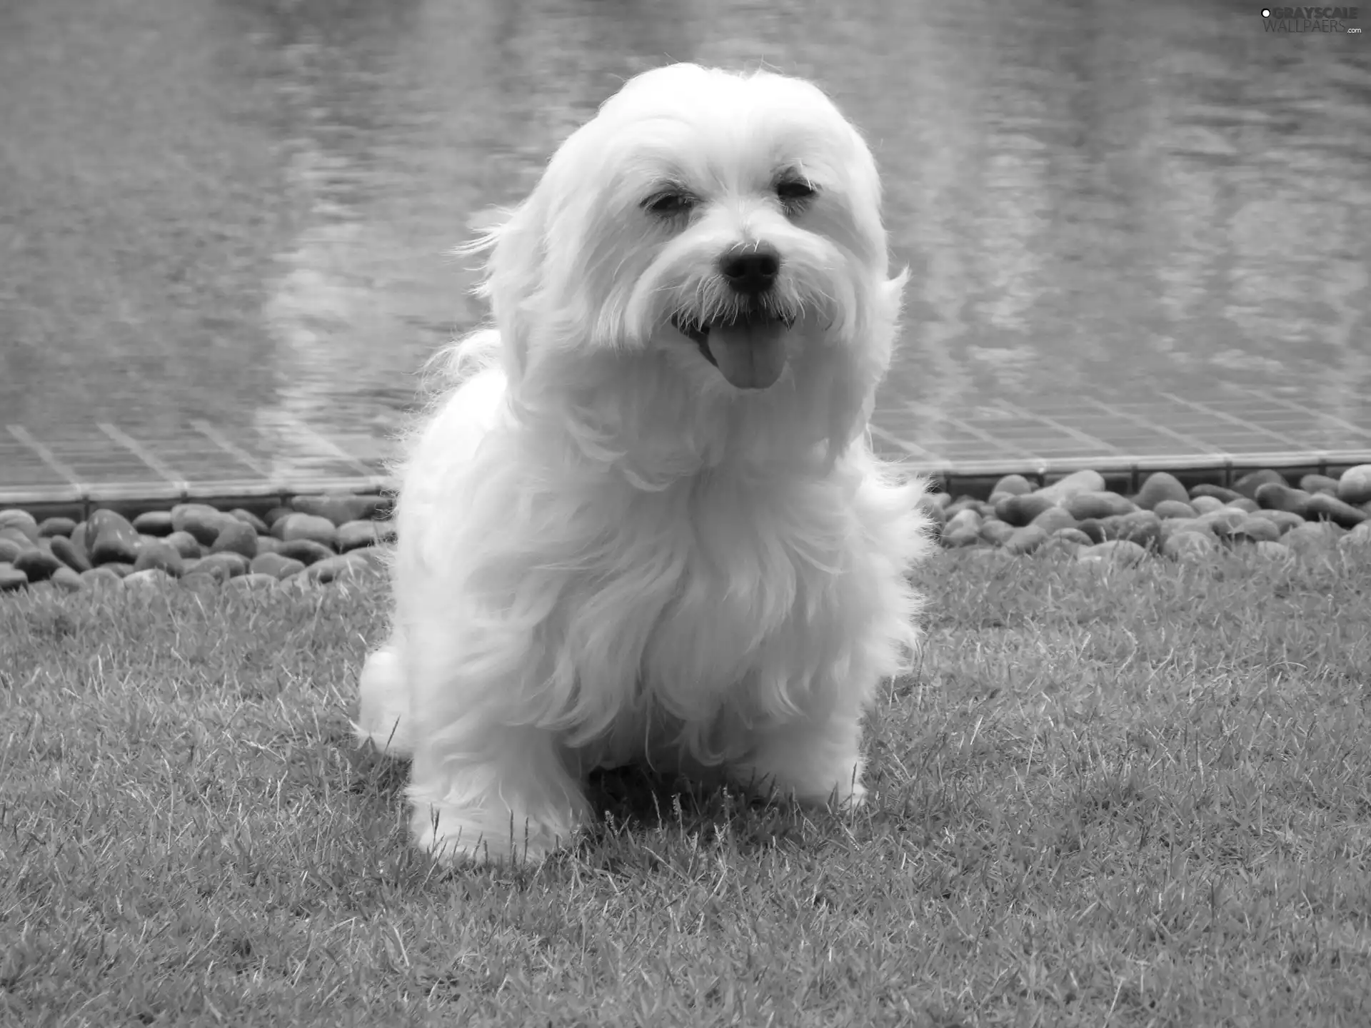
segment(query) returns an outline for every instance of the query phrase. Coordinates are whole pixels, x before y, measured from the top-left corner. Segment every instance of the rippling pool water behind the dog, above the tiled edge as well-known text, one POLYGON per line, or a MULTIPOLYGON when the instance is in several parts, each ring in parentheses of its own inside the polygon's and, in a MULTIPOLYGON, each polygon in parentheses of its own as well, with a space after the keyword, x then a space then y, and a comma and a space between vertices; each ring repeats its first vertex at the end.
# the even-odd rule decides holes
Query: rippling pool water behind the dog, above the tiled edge
POLYGON ((1364 34, 1215 0, 78 8, 5 8, 0 200, 29 240, 0 293, 5 419, 385 430, 481 317, 448 255, 470 217, 624 78, 688 59, 813 77, 871 138, 912 269, 901 432, 1224 381, 1371 422, 1364 34))

